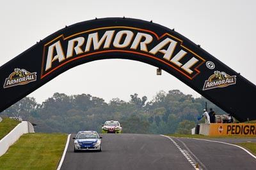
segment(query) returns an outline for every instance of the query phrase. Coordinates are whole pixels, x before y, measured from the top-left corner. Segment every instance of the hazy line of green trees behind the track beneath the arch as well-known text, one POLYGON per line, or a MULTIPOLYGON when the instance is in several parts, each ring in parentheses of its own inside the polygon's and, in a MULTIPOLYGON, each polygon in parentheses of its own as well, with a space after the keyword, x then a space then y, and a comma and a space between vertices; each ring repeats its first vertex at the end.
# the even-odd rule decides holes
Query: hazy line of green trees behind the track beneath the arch
POLYGON ((205 103, 217 115, 226 114, 204 97, 194 98, 180 90, 159 91, 151 101, 136 93, 130 97, 129 102, 113 98, 106 103, 90 94, 67 96, 56 92, 42 104, 36 103, 34 97, 24 97, 0 116, 22 117, 22 120, 35 124, 35 132, 100 132, 106 120, 118 120, 124 133, 190 134, 191 129, 200 123, 197 117, 202 115, 205 103))

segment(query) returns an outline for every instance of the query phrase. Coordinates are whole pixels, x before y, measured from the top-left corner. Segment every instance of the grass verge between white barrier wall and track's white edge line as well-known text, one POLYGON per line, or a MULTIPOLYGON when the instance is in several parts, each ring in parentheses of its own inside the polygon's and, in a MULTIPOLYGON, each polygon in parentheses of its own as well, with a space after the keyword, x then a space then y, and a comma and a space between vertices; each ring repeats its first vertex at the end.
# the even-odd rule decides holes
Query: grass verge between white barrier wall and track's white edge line
POLYGON ((0 157, 0 169, 56 169, 67 134, 23 134, 0 157))

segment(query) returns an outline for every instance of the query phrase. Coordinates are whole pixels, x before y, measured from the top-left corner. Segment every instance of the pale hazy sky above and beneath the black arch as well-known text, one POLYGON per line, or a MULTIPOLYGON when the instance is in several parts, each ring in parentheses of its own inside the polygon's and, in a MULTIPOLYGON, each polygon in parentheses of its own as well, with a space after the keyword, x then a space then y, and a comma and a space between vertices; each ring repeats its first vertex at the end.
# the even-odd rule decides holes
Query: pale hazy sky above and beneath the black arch
MULTIPOLYGON (((201 45, 256 84, 256 1, 246 0, 16 0, 0 3, 0 66, 65 25, 106 17, 152 20, 201 45)), ((74 67, 29 94, 42 103, 54 92, 91 94, 108 103, 137 93, 148 100, 159 90, 200 94, 169 73, 134 60, 98 60, 74 67), (81 76, 83 75, 83 76, 81 76)))

